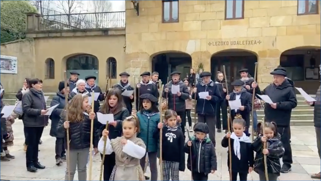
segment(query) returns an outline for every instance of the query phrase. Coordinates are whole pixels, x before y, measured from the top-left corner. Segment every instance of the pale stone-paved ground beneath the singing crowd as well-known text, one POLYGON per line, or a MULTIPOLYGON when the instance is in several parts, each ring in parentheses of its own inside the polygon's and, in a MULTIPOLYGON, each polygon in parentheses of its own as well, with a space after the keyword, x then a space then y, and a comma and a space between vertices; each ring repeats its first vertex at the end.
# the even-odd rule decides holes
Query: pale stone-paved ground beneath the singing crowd
MULTIPOLYGON (((46 169, 39 170, 37 173, 27 172, 25 167, 25 152, 23 151, 23 125, 21 120, 16 120, 13 125, 14 130, 14 146, 10 147, 11 154, 15 159, 9 162, 1 162, 1 180, 13 181, 61 181, 64 179, 66 163, 62 166, 55 165, 55 138, 49 136, 50 125, 44 129, 40 145, 39 160, 46 169)), ((287 174, 281 174, 280 181, 312 181, 310 175, 319 173, 320 158, 316 146, 316 135, 314 127, 309 126, 293 126, 292 133, 292 153, 293 165, 292 171, 287 174)), ((223 133, 216 133, 216 154, 217 154, 217 171, 215 174, 209 176, 209 181, 229 181, 229 173, 227 169, 227 149, 220 145, 223 133)), ((187 158, 187 156, 186 156, 187 158)), ((100 157, 96 156, 93 162, 92 180, 99 180, 100 171, 100 157)), ((149 175, 147 169, 146 175, 149 175)), ((249 181, 258 181, 258 175, 254 172, 248 175, 249 181)), ((77 180, 77 174, 75 176, 77 180)), ((160 180, 160 178, 159 178, 160 180)), ((181 181, 191 181, 191 172, 185 170, 180 172, 181 181)))

